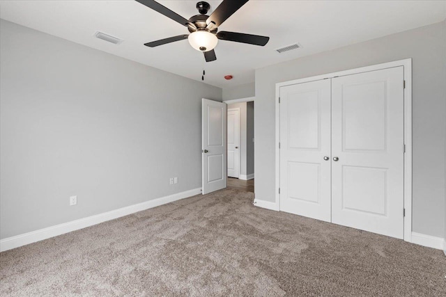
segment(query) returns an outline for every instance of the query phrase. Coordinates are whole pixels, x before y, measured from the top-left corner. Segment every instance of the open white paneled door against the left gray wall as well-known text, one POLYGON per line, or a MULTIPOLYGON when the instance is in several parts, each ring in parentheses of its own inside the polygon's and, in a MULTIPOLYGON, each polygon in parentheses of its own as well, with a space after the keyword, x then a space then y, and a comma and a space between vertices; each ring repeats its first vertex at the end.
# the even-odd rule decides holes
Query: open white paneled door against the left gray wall
POLYGON ((203 99, 201 103, 202 191, 226 188, 226 104, 203 99))

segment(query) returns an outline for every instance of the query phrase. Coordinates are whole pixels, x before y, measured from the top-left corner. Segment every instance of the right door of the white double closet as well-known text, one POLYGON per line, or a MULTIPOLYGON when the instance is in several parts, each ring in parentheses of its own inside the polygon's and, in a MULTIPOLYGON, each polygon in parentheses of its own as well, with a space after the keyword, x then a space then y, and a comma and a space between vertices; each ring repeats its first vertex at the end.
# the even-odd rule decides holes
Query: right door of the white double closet
POLYGON ((403 67, 332 79, 332 223, 403 238, 403 67))

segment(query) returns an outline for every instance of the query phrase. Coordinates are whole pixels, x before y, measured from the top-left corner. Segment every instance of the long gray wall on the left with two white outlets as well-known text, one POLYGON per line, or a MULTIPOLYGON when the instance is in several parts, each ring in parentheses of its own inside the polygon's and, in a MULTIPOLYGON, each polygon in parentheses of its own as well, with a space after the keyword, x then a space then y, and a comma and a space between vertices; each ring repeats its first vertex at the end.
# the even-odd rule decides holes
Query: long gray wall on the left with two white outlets
POLYGON ((1 239, 201 187, 201 98, 222 89, 0 25, 1 239))

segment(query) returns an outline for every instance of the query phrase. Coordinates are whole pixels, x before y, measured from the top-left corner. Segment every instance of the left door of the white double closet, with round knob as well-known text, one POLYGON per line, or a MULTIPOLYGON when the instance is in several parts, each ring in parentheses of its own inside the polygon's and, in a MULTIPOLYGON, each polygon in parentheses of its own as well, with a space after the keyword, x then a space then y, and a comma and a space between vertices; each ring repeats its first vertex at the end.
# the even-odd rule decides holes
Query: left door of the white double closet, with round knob
POLYGON ((330 221, 329 157, 330 79, 280 88, 281 211, 330 221))

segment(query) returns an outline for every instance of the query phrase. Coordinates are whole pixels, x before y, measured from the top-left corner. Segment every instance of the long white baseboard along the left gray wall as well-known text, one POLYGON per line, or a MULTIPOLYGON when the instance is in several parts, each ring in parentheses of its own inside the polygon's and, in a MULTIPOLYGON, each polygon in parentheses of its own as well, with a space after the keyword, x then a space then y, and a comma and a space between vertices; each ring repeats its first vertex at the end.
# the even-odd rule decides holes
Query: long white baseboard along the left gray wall
POLYGON ((169 202, 174 202, 176 200, 188 198, 198 194, 201 194, 201 188, 194 188, 193 190, 176 193, 162 198, 148 200, 146 202, 142 202, 139 204, 133 204, 128 207, 123 207, 120 209, 107 211, 102 214, 97 214, 95 216, 80 218, 79 220, 72 220, 71 222, 68 223, 62 223, 59 225, 54 225, 52 227, 47 227, 33 232, 28 232, 17 236, 8 237, 6 239, 1 239, 0 252, 3 252, 5 250, 10 250, 13 248, 18 248, 19 246, 25 246, 26 244, 33 243, 36 241, 49 239, 50 237, 83 229, 85 227, 90 227, 92 225, 105 222, 107 220, 114 220, 115 218, 120 218, 121 216, 134 214, 135 212, 138 211, 143 211, 146 209, 150 209, 152 207, 157 207, 162 204, 167 204, 169 202))

